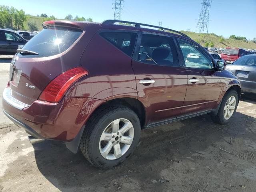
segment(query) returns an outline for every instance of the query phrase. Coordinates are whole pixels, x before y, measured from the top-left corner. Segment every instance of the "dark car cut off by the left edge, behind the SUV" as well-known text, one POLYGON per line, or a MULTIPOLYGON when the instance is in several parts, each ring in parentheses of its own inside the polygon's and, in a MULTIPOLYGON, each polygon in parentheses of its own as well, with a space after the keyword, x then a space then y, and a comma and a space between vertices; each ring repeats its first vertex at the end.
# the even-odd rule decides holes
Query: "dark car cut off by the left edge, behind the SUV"
POLYGON ((0 54, 15 54, 26 42, 28 41, 18 34, 0 29, 0 54))

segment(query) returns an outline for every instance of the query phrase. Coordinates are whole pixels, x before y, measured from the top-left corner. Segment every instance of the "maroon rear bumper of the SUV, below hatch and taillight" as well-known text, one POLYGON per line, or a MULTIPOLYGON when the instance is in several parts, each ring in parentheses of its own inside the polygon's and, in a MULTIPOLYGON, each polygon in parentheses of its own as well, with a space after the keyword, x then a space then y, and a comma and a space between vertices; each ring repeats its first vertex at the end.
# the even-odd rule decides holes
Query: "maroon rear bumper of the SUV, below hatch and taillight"
MULTIPOLYGON (((6 88, 8 89, 8 88, 6 88)), ((59 103, 36 100, 23 109, 6 100, 6 90, 2 99, 4 114, 28 134, 42 139, 72 141, 90 114, 103 100, 92 98, 64 97, 59 103)))

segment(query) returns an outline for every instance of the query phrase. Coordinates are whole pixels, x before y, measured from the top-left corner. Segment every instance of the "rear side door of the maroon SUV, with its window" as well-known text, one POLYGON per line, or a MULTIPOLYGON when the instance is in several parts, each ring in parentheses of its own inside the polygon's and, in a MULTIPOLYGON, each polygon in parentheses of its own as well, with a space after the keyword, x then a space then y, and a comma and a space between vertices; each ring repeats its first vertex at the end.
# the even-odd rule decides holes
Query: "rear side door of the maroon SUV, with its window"
POLYGON ((146 124, 180 115, 187 74, 179 65, 172 37, 139 33, 132 68, 138 99, 146 106, 146 124))

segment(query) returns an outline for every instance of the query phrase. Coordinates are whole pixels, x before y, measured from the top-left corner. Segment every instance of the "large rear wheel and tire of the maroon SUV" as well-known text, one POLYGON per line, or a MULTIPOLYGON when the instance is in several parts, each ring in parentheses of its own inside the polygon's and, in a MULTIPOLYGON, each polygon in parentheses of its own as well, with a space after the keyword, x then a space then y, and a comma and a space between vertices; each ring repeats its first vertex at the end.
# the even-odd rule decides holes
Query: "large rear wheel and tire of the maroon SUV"
POLYGON ((140 120, 126 106, 109 106, 94 113, 80 140, 84 157, 99 168, 112 168, 134 152, 140 140, 140 120))

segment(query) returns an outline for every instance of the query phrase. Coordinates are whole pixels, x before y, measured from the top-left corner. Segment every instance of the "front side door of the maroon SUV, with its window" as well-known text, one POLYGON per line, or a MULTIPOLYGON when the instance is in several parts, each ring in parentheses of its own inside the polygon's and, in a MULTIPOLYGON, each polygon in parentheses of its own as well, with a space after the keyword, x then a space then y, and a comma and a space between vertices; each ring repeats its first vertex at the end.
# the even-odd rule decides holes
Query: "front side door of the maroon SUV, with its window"
POLYGON ((181 113, 213 109, 222 89, 221 72, 214 70, 210 56, 193 42, 178 38, 178 44, 188 74, 188 88, 181 113))

